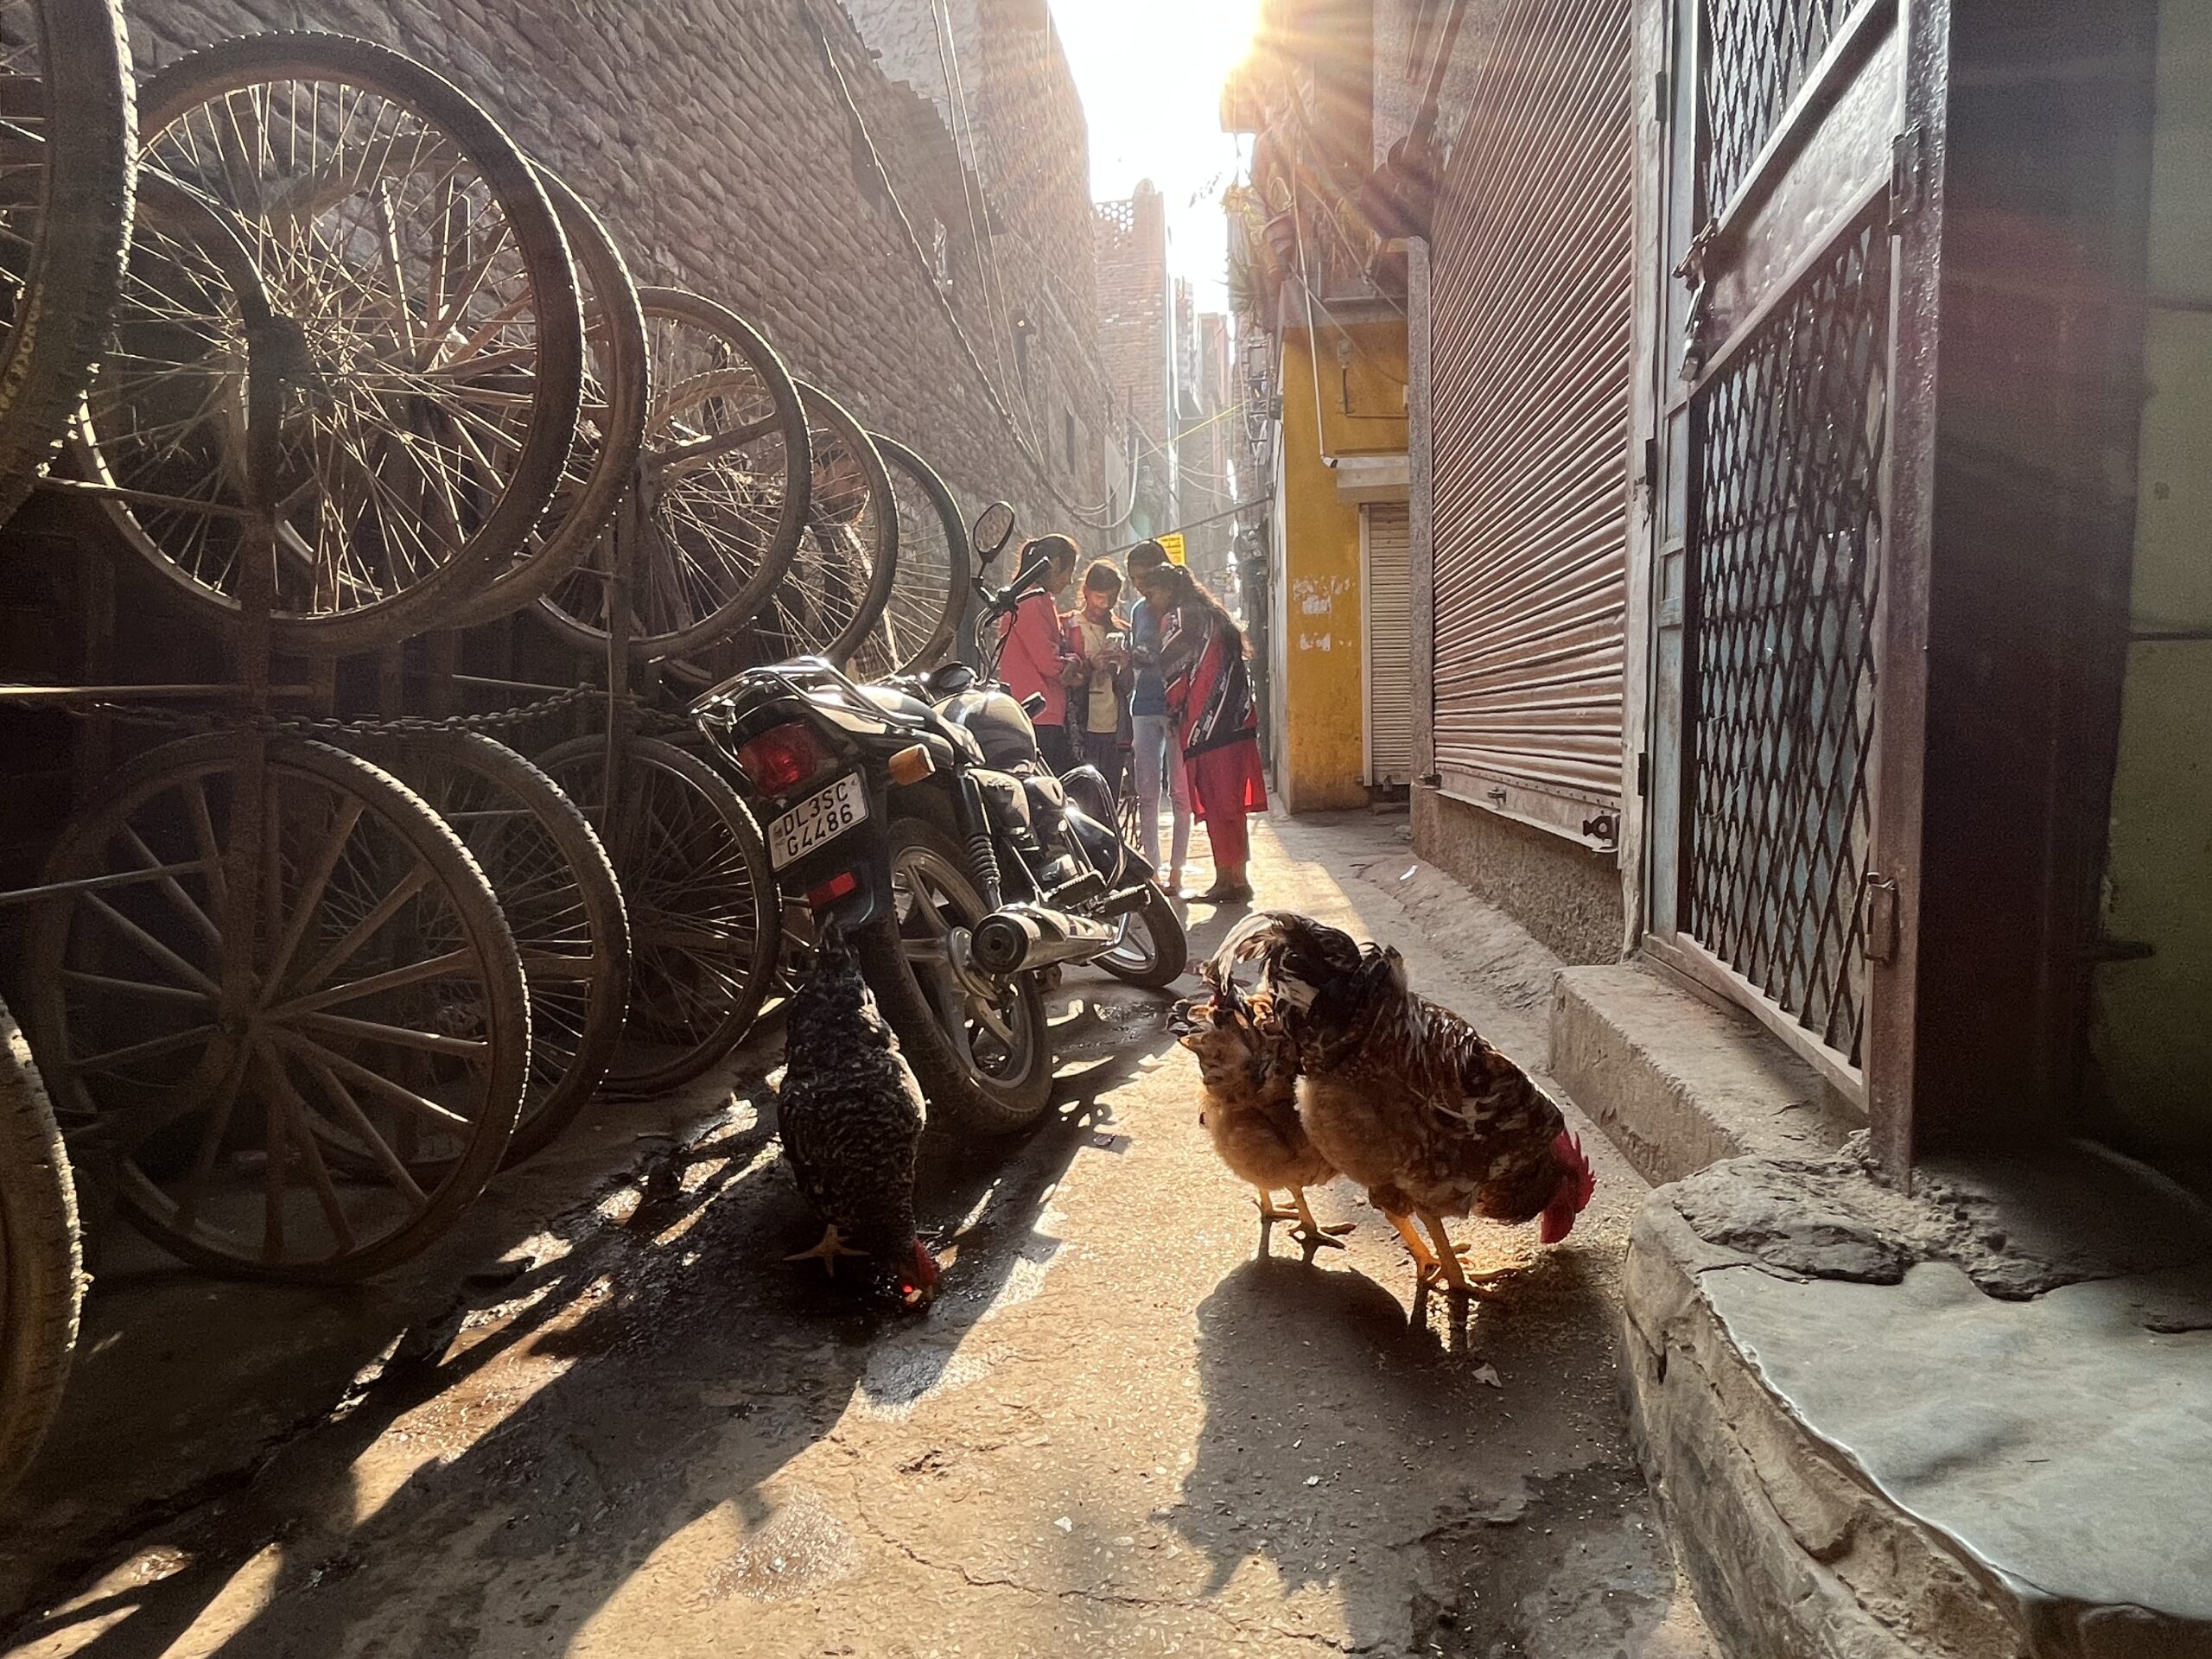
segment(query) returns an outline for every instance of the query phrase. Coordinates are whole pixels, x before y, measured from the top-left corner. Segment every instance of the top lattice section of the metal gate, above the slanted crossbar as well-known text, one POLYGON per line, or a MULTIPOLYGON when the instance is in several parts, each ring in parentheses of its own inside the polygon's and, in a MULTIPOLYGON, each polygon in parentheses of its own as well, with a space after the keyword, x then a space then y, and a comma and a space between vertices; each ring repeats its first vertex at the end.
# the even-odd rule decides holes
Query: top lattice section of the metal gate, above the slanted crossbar
POLYGON ((1752 177, 1790 102, 1860 4, 1869 0, 1703 0, 1705 212, 1728 208, 1752 177))

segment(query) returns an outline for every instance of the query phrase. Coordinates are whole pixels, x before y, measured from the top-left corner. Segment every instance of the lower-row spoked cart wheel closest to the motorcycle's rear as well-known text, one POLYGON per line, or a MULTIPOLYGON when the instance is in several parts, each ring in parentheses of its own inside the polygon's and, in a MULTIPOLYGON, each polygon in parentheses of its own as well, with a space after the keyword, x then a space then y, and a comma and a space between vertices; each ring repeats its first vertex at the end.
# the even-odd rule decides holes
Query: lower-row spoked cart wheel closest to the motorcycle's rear
POLYGON ((761 832, 714 768, 650 737, 624 745, 615 803, 604 737, 538 765, 597 827, 630 914, 630 1013, 606 1086, 679 1088, 745 1040, 776 971, 783 914, 761 832))

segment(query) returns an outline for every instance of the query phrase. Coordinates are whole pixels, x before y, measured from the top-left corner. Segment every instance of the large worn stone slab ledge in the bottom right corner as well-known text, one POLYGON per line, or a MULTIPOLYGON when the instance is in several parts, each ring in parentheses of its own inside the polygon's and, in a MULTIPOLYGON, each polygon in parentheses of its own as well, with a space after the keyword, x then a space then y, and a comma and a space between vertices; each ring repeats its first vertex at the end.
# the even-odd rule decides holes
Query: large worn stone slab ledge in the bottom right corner
MULTIPOLYGON (((1820 1172, 1838 1194, 1849 1166, 1820 1172)), ((2062 1148, 1973 1197, 2015 1241, 2051 1237, 2073 1208, 2053 1214, 2062 1166, 2097 1208, 2128 1172, 2062 1148)), ((1898 1230, 1840 1197, 1907 1256, 1889 1283, 1781 1265, 1823 1250, 1776 1252, 1761 1228, 1756 1254, 1714 1241, 1714 1214, 1774 1214, 1776 1181, 1805 1175, 1741 1159, 1655 1192, 1624 1270, 1630 1429, 1728 1652, 2212 1659, 2212 1217, 2137 1170, 2124 1210, 2148 1241, 2093 1263, 2121 1228, 2090 1219, 2048 1290, 2011 1274, 1997 1294, 1960 1259, 1955 1199, 1898 1230), (2199 1248, 2170 1265, 2183 1221, 2199 1248)))

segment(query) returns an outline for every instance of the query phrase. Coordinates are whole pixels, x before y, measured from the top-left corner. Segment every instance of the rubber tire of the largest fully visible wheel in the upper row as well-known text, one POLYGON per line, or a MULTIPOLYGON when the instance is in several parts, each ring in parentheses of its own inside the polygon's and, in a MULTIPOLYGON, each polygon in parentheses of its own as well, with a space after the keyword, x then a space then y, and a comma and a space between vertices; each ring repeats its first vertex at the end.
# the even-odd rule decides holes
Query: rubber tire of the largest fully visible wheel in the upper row
MULTIPOLYGON (((538 294, 535 367, 542 407, 524 436, 500 504, 467 546, 431 575, 376 604, 334 615, 279 613, 270 619, 270 639, 279 650, 345 657, 396 646, 425 628, 449 626, 447 617, 456 606, 484 588, 529 538, 560 489, 575 440, 584 389, 584 303, 575 265, 568 261, 568 241, 538 168, 453 82, 389 46, 305 29, 223 40, 179 58, 139 88, 139 139, 150 148, 184 113, 223 93, 272 80, 367 86, 434 124, 498 192, 538 294)), ((221 206, 234 210, 234 204, 221 206)), ((186 575, 170 560, 148 551, 137 535, 128 531, 122 535, 201 611, 212 611, 226 626, 239 624, 239 606, 230 595, 186 575)))

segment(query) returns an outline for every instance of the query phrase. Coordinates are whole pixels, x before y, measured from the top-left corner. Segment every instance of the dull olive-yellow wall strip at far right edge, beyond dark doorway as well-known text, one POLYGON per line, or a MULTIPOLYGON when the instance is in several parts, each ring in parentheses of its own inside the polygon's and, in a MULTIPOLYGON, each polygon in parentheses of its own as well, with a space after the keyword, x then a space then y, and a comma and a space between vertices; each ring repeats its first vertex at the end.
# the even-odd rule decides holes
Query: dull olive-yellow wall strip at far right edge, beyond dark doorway
MULTIPOLYGON (((2150 288, 2212 301, 2212 0, 2159 9, 2150 288)), ((2154 307, 2106 916, 2152 956, 2097 969, 2095 1051, 2150 1137, 2212 1148, 2212 314, 2154 307)))

